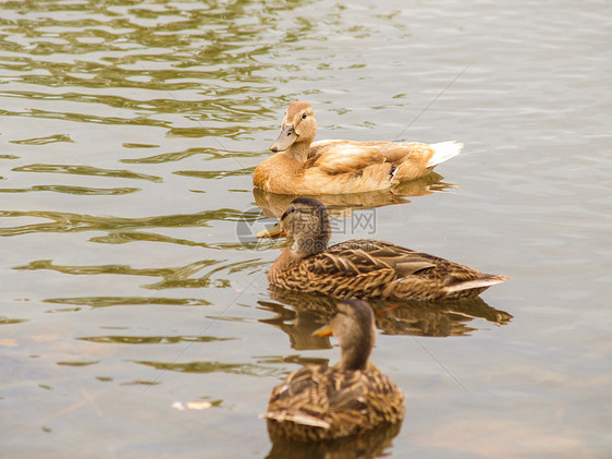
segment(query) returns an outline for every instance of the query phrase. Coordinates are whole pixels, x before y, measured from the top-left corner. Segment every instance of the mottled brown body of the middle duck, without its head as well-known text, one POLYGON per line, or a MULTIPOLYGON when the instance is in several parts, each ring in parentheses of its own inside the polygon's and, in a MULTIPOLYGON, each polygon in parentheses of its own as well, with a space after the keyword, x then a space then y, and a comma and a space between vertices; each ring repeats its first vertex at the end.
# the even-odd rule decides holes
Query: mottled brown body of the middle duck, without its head
POLYGON ((335 298, 432 301, 475 297, 505 278, 388 242, 356 239, 294 261, 270 280, 335 298))

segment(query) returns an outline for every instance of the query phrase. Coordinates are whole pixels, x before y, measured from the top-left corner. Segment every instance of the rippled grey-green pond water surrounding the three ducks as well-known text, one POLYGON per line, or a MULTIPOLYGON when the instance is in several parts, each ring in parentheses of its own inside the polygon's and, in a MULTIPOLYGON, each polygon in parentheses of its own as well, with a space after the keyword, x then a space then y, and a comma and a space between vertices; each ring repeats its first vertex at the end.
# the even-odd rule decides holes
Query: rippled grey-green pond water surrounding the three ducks
POLYGON ((2 456, 609 457, 611 31, 605 0, 2 2, 2 456), (377 306, 399 433, 272 448, 272 387, 339 357, 309 336, 333 304, 269 290, 283 241, 253 237, 298 99, 318 138, 465 144, 332 203, 333 242, 512 279, 377 306))

